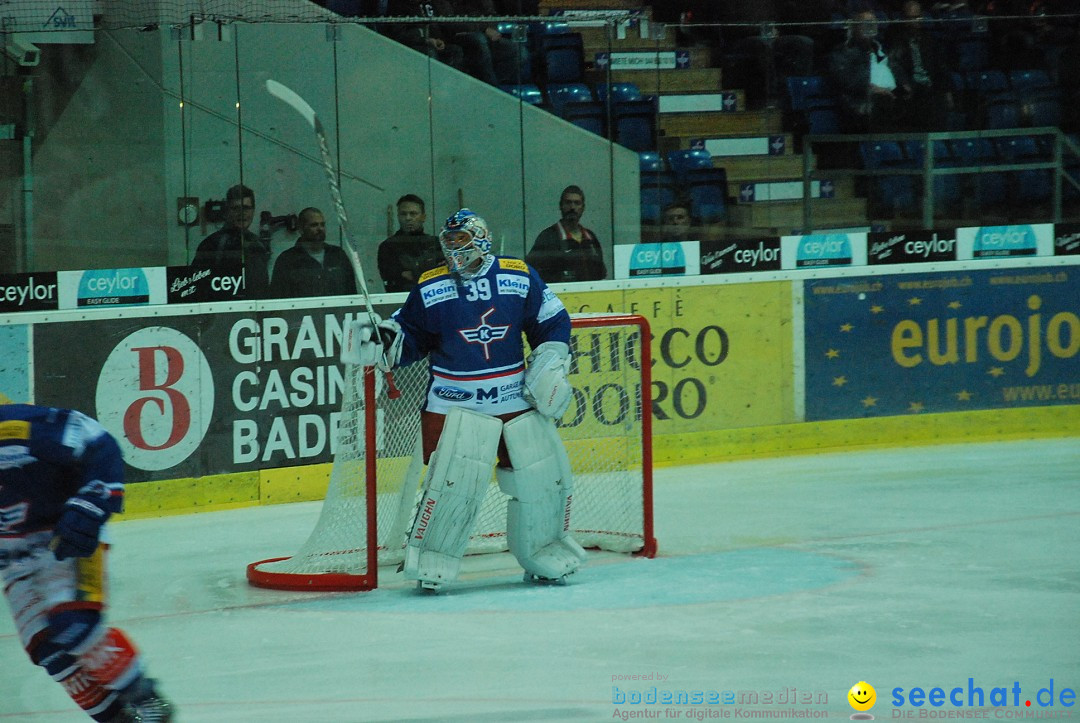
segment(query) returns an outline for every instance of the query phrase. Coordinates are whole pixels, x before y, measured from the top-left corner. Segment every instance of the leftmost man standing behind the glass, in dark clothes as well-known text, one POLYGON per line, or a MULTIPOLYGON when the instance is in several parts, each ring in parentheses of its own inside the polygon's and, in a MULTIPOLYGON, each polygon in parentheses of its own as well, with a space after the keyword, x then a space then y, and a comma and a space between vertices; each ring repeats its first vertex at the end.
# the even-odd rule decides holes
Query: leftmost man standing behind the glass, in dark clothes
POLYGON ((235 185, 225 193, 225 225, 195 249, 191 266, 215 273, 244 276, 244 296, 262 298, 270 286, 270 250, 251 230, 255 220, 255 191, 235 185))

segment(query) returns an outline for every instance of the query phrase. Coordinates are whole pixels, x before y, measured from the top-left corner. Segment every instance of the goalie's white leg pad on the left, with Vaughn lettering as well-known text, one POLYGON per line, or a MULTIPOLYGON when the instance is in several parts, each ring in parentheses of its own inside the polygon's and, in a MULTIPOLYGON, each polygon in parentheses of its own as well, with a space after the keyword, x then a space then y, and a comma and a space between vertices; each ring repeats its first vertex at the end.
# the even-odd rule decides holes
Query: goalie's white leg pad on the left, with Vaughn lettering
POLYGON ((502 420, 453 409, 428 464, 420 507, 405 547, 403 572, 423 587, 453 583, 469 533, 487 495, 502 420))

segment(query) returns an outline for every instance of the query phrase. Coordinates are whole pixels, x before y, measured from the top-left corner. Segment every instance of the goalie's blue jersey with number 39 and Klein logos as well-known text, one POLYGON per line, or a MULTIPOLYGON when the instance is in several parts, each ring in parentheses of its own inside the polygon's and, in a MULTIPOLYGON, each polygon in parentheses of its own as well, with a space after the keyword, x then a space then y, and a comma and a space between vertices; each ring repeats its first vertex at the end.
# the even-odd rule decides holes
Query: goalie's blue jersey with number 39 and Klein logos
POLYGON ((462 280, 446 266, 422 275, 393 319, 404 333, 401 366, 429 357, 424 409, 485 414, 529 409, 522 397, 525 345, 570 342, 570 314, 525 262, 488 257, 462 280))

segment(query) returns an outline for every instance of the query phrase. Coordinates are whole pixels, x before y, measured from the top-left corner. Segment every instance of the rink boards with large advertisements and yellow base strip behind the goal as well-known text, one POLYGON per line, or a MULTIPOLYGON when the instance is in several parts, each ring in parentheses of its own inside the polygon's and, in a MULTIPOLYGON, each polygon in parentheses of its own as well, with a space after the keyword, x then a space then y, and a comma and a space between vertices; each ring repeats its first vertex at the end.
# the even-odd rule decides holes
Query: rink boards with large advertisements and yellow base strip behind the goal
MULTIPOLYGON (((1074 258, 555 289, 571 312, 648 319, 654 458, 686 464, 1075 433, 1074 258)), ((376 297, 383 314, 402 298, 376 297)), ((319 498, 340 407, 340 330, 356 310, 342 300, 10 314, 0 391, 102 419, 124 445, 130 513, 319 498)), ((573 381, 595 401, 589 414, 605 396, 635 393, 596 384, 585 366, 573 381)), ((607 421, 583 429, 603 434, 607 421)))

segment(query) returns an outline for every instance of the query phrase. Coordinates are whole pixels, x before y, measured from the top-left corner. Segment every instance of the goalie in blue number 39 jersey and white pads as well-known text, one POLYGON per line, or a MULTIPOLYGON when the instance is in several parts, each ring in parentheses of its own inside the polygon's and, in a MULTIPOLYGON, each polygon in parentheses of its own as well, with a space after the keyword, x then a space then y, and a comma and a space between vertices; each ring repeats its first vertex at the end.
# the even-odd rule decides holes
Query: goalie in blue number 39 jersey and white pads
POLYGON ((572 477, 555 429, 571 398, 570 317, 535 269, 491 253, 487 224, 472 211, 447 218, 438 240, 446 265, 422 275, 375 329, 354 322, 342 352, 384 370, 430 362, 428 472, 403 570, 422 590, 457 578, 498 460, 511 497, 508 544, 525 579, 564 583, 585 558, 569 534, 572 477))

